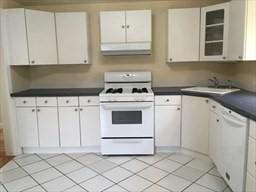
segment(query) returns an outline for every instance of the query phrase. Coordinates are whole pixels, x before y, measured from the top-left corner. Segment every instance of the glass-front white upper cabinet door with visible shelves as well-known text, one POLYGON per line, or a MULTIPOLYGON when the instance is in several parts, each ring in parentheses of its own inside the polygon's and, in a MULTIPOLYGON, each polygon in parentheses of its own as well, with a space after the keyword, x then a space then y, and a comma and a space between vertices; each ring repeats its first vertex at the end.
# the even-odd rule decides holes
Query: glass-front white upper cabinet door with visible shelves
POLYGON ((229 3, 201 9, 200 60, 225 61, 228 51, 229 3))

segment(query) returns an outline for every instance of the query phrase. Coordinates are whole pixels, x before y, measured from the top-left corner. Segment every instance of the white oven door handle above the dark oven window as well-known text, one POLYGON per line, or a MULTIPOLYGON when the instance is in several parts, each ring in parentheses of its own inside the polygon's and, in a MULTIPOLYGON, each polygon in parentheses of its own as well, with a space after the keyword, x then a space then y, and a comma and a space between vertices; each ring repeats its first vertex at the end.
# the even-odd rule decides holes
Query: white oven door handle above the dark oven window
POLYGON ((147 109, 153 107, 153 103, 144 102, 144 103, 104 103, 100 104, 100 106, 107 110, 127 110, 127 109, 147 109))

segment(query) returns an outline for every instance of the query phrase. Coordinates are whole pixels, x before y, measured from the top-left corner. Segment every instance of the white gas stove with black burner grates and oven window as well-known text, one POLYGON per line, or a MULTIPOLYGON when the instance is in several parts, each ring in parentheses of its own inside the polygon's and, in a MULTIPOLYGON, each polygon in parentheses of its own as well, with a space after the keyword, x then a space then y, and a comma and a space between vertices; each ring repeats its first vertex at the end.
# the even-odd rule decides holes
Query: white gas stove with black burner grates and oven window
POLYGON ((154 153, 151 72, 107 72, 100 93, 101 152, 154 153))

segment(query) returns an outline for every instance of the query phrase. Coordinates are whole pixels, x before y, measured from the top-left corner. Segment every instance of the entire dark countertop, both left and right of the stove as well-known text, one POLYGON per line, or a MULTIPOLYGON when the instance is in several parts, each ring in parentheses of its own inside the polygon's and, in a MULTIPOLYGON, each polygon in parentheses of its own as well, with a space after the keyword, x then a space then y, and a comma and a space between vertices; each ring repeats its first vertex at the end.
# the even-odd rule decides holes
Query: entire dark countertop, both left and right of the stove
MULTIPOLYGON (((191 95, 209 97, 223 106, 256 121, 256 93, 241 90, 226 95, 181 91, 185 87, 153 87, 155 95, 191 95)), ((103 88, 28 89, 12 97, 98 96, 103 88)))

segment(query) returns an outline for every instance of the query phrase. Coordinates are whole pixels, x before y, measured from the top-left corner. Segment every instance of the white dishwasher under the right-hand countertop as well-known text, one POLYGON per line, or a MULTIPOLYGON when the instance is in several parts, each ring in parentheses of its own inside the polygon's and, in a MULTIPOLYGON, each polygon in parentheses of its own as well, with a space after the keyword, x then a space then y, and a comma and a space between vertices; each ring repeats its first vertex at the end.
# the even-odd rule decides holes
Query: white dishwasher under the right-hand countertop
POLYGON ((248 120, 225 107, 221 114, 219 171, 233 191, 244 191, 248 120))

